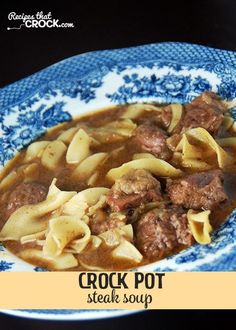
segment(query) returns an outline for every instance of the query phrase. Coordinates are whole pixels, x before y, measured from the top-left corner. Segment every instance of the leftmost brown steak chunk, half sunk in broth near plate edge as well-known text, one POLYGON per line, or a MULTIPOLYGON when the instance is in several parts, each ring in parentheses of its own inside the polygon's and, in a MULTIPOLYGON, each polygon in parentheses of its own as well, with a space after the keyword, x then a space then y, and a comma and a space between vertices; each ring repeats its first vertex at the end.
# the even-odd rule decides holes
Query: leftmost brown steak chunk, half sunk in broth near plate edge
POLYGON ((10 194, 6 217, 15 212, 23 205, 37 204, 42 202, 47 196, 47 189, 39 183, 20 183, 10 194))

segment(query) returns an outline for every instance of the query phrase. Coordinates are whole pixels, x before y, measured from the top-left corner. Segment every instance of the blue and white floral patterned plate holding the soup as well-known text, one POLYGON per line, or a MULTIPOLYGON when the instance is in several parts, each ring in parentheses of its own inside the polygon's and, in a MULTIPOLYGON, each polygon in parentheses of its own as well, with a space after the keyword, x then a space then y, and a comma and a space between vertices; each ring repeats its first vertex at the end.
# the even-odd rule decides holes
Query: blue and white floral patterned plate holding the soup
MULTIPOLYGON (((114 104, 189 102, 205 90, 236 98, 236 53, 185 43, 160 43, 74 56, 0 90, 0 164, 49 127, 114 104)), ((235 116, 236 109, 232 110, 235 116)), ((212 243, 142 267, 149 271, 235 271, 236 213, 212 243)), ((42 271, 0 246, 0 271, 42 271)), ((93 319, 127 311, 24 310, 14 315, 93 319)))

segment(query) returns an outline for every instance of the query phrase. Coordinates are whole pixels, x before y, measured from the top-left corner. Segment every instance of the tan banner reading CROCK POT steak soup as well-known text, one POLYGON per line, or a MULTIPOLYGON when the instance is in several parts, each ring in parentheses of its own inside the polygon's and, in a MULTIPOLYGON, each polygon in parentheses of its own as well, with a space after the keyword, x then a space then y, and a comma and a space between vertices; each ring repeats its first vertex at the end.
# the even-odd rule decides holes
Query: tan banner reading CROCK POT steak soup
POLYGON ((1 273, 1 309, 235 309, 232 273, 1 273))

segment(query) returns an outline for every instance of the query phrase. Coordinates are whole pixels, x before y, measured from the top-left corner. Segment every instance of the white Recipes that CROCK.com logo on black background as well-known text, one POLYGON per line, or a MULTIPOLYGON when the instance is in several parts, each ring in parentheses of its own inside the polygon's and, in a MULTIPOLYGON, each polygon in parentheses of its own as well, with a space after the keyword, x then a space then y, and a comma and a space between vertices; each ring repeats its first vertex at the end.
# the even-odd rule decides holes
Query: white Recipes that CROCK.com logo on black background
POLYGON ((7 30, 20 30, 22 27, 27 29, 38 28, 73 28, 74 23, 59 22, 59 19, 53 18, 52 13, 44 14, 43 11, 37 12, 35 15, 17 14, 11 12, 8 14, 8 20, 14 21, 14 26, 7 27, 7 30))

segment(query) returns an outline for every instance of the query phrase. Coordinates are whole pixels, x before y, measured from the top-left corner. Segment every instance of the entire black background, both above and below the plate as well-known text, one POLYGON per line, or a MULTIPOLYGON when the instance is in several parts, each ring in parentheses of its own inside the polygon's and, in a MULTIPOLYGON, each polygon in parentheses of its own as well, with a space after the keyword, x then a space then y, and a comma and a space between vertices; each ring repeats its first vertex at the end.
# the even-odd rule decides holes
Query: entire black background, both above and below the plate
MULTIPOLYGON (((185 41, 236 51, 235 0, 2 1, 0 14, 0 87, 69 56, 99 49, 185 41), (28 15, 51 11, 53 18, 73 22, 75 28, 8 31, 17 23, 7 19, 13 11, 28 15)), ((199 329, 206 322, 210 328, 224 323, 230 329, 235 315, 235 311, 148 311, 110 320, 49 322, 1 314, 0 329, 199 329)))

